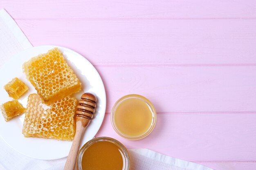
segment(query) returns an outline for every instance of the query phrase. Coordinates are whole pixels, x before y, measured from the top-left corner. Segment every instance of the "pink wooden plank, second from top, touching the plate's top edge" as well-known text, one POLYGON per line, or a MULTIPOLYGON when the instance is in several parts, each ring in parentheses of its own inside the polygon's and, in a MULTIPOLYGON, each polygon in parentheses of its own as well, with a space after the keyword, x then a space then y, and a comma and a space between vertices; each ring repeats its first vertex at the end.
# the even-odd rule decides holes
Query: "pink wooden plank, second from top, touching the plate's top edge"
POLYGON ((256 65, 256 20, 16 20, 34 46, 94 65, 256 65))

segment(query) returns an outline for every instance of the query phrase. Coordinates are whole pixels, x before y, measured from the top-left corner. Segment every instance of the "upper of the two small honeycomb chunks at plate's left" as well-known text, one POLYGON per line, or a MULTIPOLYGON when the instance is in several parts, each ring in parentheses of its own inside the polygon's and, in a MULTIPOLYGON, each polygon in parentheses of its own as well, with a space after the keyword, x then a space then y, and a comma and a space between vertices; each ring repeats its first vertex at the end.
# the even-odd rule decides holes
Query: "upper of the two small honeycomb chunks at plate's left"
POLYGON ((4 90, 7 91, 9 97, 13 99, 19 99, 21 95, 23 95, 29 88, 27 85, 22 82, 17 77, 13 78, 11 82, 4 85, 4 90))

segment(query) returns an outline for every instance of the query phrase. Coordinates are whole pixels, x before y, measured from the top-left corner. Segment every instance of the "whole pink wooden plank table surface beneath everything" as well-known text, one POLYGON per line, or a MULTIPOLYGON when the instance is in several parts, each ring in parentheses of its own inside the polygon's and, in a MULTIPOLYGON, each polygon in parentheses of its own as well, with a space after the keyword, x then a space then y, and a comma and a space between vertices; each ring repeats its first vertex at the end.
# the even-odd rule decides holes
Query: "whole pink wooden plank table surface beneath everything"
POLYGON ((106 87, 97 136, 216 170, 256 169, 255 0, 0 0, 34 46, 81 53, 106 87), (137 93, 157 110, 145 139, 117 135, 110 110, 137 93))

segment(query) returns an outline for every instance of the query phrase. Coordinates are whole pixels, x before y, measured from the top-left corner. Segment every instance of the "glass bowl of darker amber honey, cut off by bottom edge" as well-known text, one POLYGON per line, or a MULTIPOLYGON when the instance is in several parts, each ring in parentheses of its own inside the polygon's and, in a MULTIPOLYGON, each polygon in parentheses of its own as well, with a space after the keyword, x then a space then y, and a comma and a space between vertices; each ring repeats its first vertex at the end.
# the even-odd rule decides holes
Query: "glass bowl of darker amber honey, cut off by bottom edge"
POLYGON ((127 149, 116 139, 97 137, 79 150, 77 170, 130 170, 127 149))

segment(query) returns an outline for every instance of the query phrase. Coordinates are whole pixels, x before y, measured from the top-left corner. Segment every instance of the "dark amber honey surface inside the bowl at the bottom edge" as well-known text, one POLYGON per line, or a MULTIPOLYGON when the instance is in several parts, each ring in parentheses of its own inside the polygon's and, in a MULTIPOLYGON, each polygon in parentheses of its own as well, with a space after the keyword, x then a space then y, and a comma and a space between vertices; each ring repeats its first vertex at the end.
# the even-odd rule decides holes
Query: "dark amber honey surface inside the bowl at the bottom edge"
POLYGON ((90 145, 82 157, 82 170, 122 170, 123 157, 119 147, 109 141, 90 145))

